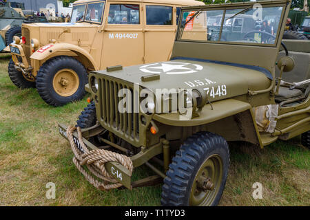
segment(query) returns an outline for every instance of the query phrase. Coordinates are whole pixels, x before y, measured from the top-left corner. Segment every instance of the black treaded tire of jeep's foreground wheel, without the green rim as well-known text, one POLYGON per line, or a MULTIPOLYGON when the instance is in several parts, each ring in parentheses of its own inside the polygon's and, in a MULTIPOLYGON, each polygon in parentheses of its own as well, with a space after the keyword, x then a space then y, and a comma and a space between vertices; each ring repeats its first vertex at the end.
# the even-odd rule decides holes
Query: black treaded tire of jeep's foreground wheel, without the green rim
POLYGON ((219 155, 223 162, 223 175, 211 206, 216 206, 225 188, 229 169, 229 148, 226 140, 214 133, 200 132, 189 137, 169 165, 164 179, 161 204, 163 206, 189 206, 189 197, 196 173, 205 159, 219 155))

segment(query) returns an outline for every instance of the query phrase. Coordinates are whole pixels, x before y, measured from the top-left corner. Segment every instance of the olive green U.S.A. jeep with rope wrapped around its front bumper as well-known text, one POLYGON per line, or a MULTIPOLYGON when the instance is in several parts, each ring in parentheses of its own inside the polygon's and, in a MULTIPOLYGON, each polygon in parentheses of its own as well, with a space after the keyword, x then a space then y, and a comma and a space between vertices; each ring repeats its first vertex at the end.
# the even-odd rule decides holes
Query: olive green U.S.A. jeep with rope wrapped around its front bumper
POLYGON ((109 189, 99 183, 107 176, 128 189, 163 180, 163 206, 214 206, 227 180, 227 142, 263 148, 302 135, 309 148, 310 41, 282 42, 290 5, 279 0, 185 7, 170 61, 92 72, 91 103, 77 121, 81 129, 59 124, 83 175, 102 189, 109 189), (246 22, 260 13, 280 17, 275 33, 251 21, 251 30, 222 38, 227 19, 246 22), (208 19, 218 16, 220 32, 209 32, 208 19), (123 157, 109 159, 112 153, 123 157), (96 177, 90 180, 83 164, 96 177), (156 175, 131 181, 131 167, 143 164, 156 175))

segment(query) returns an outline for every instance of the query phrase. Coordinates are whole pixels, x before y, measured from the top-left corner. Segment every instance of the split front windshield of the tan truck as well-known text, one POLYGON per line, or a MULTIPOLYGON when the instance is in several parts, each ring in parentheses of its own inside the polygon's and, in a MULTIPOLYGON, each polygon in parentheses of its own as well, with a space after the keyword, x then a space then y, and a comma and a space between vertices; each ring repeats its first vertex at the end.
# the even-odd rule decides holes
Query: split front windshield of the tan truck
POLYGON ((72 8, 71 23, 83 21, 90 23, 101 23, 104 8, 105 1, 74 5, 72 8))

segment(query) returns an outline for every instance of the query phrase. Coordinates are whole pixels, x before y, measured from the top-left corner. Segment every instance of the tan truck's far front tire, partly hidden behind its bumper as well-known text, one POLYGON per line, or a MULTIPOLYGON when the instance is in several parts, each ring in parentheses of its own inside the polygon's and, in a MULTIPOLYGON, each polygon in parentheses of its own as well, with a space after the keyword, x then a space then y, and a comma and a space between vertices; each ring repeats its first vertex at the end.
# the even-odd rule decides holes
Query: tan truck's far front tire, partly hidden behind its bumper
POLYGON ((17 87, 21 88, 21 89, 28 89, 28 88, 35 88, 36 87, 36 83, 27 80, 22 72, 19 72, 17 69, 15 69, 15 64, 12 60, 12 58, 10 59, 9 65, 8 65, 8 75, 12 81, 12 83, 14 83, 14 85, 16 85, 17 87))

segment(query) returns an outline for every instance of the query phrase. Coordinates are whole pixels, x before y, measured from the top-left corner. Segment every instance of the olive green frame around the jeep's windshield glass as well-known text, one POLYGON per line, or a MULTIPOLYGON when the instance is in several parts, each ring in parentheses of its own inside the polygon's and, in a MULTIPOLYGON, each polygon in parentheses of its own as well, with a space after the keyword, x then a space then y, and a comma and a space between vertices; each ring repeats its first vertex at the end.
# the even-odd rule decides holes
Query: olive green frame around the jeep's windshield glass
POLYGON ((219 39, 221 37, 223 27, 224 27, 224 20, 225 20, 225 15, 227 10, 245 10, 251 5, 254 5, 254 3, 260 3, 262 5, 262 8, 269 8, 269 7, 282 7, 282 12, 280 15, 280 21, 278 23, 278 32, 276 34, 276 39, 275 43, 273 44, 267 44, 267 43, 245 43, 245 42, 234 42, 234 41, 198 41, 198 40, 191 40, 191 39, 180 39, 183 34, 183 28, 182 28, 182 22, 180 21, 178 24, 178 30, 176 33, 176 39, 175 41, 180 41, 180 42, 190 42, 190 43, 213 43, 213 44, 225 44, 225 45, 251 45, 251 46, 258 46, 258 47, 277 47, 278 46, 278 41, 279 41, 279 36, 280 32, 282 32, 283 29, 283 17, 285 16, 285 12, 287 10, 287 1, 278 1, 278 2, 247 2, 247 3, 234 3, 234 4, 227 4, 227 5, 204 5, 203 7, 185 7, 182 8, 180 12, 180 17, 183 17, 184 12, 192 12, 192 11, 211 11, 211 10, 223 10, 223 16, 222 16, 222 23, 220 27, 220 35, 219 39))

